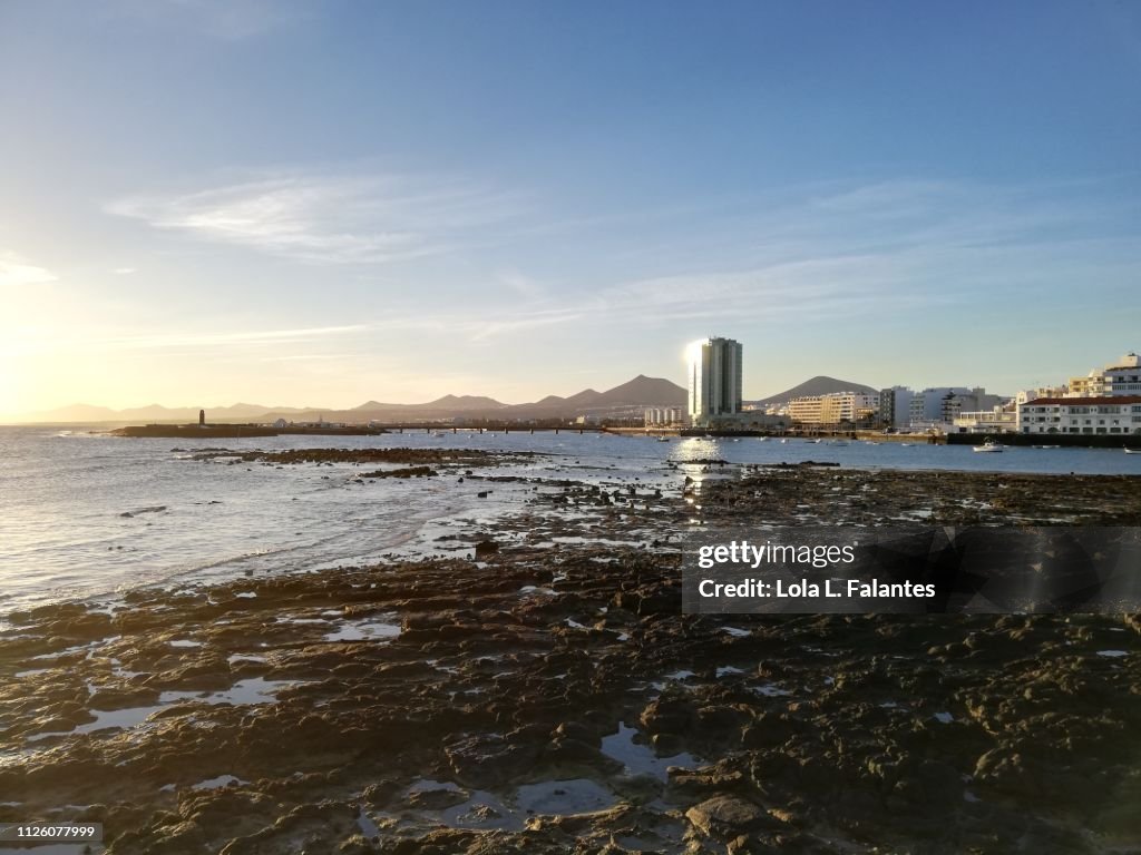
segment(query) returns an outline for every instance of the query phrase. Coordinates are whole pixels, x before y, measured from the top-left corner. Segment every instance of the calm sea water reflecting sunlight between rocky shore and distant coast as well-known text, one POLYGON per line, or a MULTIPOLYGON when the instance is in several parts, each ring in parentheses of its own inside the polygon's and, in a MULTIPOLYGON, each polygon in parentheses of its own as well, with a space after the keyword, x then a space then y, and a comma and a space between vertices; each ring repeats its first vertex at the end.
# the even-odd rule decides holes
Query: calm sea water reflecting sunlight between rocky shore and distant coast
POLYGON ((600 482, 638 477, 680 487, 667 461, 834 461, 855 467, 1141 474, 1141 455, 1104 449, 810 445, 791 440, 674 439, 553 433, 423 432, 250 440, 121 439, 66 427, 0 427, 0 614, 31 604, 155 581, 319 570, 414 552, 472 521, 494 528, 531 488, 453 478, 361 487, 343 466, 235 466, 191 459, 195 449, 462 447, 544 455, 495 474, 600 482), (175 448, 185 449, 183 451, 175 448), (493 489, 489 498, 480 490, 493 489), (163 508, 163 510, 149 510, 163 508), (130 514, 130 515, 124 515, 130 514))

